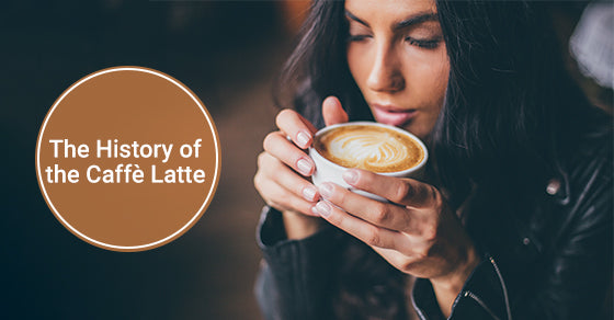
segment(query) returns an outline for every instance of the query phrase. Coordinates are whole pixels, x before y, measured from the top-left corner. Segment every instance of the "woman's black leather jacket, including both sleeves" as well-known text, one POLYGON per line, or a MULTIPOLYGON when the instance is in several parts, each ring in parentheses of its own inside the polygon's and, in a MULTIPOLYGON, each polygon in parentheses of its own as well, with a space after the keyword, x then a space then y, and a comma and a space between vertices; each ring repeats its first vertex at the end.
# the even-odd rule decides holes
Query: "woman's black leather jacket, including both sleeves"
MULTIPOLYGON (((450 319, 612 319, 612 144, 610 136, 585 144, 536 201, 519 199, 513 215, 488 215, 505 209, 492 203, 496 197, 475 201, 485 214, 465 226, 482 262, 450 319)), ((255 293, 266 319, 332 318, 336 232, 325 228, 287 240, 280 213, 263 210, 255 293)), ((411 301, 421 319, 444 319, 428 279, 417 279, 411 301)))

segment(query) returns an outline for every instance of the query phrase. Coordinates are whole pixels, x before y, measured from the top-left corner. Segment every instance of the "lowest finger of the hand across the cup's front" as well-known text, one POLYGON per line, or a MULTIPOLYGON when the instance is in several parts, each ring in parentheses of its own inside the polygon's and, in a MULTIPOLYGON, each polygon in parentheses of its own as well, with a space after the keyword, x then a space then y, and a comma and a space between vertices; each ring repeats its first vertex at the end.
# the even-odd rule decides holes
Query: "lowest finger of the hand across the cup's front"
POLYGON ((326 201, 312 207, 314 213, 320 215, 330 224, 356 237, 368 245, 395 249, 399 232, 379 228, 341 210, 326 201))

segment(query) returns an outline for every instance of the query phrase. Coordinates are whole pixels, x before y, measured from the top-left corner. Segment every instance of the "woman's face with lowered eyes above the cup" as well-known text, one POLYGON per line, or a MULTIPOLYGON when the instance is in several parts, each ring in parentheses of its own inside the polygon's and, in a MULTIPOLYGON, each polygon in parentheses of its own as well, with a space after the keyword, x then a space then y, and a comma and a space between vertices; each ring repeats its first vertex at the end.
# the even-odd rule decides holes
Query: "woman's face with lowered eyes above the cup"
POLYGON ((432 0, 346 0, 348 64, 375 119, 424 138, 450 62, 432 0))

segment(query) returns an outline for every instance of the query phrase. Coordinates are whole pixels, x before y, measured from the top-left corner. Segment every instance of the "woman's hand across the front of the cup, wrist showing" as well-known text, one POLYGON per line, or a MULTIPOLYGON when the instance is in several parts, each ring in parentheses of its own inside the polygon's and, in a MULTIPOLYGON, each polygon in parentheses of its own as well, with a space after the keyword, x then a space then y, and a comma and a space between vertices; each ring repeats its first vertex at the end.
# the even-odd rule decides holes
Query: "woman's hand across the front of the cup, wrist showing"
POLYGON ((412 179, 351 169, 350 185, 387 198, 377 202, 333 183, 323 183, 325 201, 312 209, 359 238, 401 272, 429 278, 448 316, 463 284, 479 263, 459 219, 434 186, 412 179))

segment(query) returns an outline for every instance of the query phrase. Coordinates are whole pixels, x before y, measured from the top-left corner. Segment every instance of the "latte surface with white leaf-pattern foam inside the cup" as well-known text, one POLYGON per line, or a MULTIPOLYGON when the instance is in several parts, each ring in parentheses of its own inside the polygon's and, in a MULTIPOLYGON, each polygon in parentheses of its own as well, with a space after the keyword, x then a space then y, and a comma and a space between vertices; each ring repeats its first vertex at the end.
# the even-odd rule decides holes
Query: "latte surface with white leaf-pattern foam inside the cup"
POLYGON ((410 137, 395 130, 364 125, 344 126, 316 140, 316 150, 328 160, 346 168, 374 172, 410 169, 424 157, 410 137))

